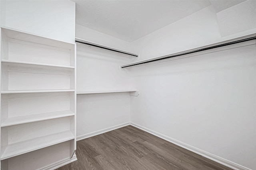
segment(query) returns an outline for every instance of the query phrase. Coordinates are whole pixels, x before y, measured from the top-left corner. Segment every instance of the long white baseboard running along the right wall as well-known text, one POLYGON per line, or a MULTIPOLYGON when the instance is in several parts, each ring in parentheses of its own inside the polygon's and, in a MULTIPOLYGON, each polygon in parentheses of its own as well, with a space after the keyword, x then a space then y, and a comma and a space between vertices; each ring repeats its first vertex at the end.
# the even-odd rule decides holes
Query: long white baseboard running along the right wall
POLYGON ((198 149, 198 148, 192 147, 192 146, 190 146, 190 145, 187 145, 187 144, 185 144, 185 143, 182 143, 182 142, 180 142, 180 141, 177 141, 177 140, 175 140, 175 139, 172 139, 172 138, 170 138, 170 137, 168 137, 168 136, 166 136, 166 135, 163 135, 163 134, 161 134, 161 133, 158 133, 158 132, 156 132, 156 131, 152 131, 152 130, 146 128, 146 127, 137 125, 136 123, 132 123, 132 122, 131 122, 130 125, 132 125, 132 126, 134 126, 134 127, 137 127, 138 129, 141 129, 142 131, 146 131, 146 132, 148 132, 148 133, 150 133, 150 134, 152 134, 152 135, 155 135, 155 136, 157 136, 157 137, 160 137, 160 138, 162 138, 162 139, 164 139, 164 140, 166 140, 166 141, 168 141, 168 142, 170 142, 170 143, 173 143, 173 144, 175 144, 175 145, 178 145, 178 146, 180 146, 180 147, 182 147, 182 148, 184 148, 184 149, 190 150, 190 151, 192 151, 192 152, 194 152, 194 153, 196 153, 196 154, 199 154, 199 155, 201 155, 201 156, 204 156, 204 157, 206 157, 206 158, 208 158, 208 159, 210 159, 210 160, 213 160, 213 161, 218 162, 218 163, 220 163, 220 164, 222 164, 222 165, 228 166, 229 168, 232 168, 232 169, 234 169, 234 170, 252 170, 252 169, 250 169, 250 168, 246 168, 246 167, 244 167, 244 166, 242 166, 242 165, 236 164, 236 163, 231 162, 231 161, 229 161, 229 160, 226 160, 226 159, 224 159, 224 158, 220 158, 219 156, 216 156, 216 155, 214 155, 214 154, 210 154, 210 153, 208 153, 208 152, 206 152, 206 151, 204 151, 204 150, 200 150, 200 149, 198 149))

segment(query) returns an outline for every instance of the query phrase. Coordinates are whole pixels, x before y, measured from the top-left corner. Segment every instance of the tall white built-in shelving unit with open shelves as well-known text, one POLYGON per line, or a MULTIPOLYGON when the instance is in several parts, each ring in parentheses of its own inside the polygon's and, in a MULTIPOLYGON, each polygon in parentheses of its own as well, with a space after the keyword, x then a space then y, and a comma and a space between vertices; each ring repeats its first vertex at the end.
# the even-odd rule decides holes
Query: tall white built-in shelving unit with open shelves
POLYGON ((0 32, 1 169, 76 160, 76 45, 7 27, 0 32))

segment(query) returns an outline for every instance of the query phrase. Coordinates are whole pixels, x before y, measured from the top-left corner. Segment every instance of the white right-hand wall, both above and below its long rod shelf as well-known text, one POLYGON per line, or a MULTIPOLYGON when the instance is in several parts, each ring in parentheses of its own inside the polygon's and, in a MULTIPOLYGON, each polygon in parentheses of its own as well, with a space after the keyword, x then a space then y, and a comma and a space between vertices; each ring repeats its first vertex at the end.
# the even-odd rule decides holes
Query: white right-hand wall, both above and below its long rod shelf
MULTIPOLYGON (((132 45, 143 60, 252 33, 256 29, 221 37, 216 13, 209 6, 132 45)), ((140 96, 132 99, 131 121, 256 169, 255 56, 254 41, 245 47, 127 68, 140 90, 140 96)))

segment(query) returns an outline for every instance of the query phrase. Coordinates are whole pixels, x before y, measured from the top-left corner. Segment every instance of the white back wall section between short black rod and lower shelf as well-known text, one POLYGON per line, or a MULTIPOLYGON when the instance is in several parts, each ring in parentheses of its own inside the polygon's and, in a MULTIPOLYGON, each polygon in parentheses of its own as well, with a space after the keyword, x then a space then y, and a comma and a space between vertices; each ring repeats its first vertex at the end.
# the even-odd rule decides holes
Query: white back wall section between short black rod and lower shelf
POLYGON ((120 66, 134 57, 77 43, 77 91, 133 89, 129 72, 120 66))

